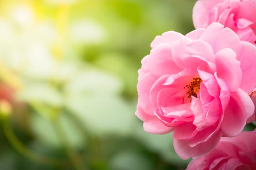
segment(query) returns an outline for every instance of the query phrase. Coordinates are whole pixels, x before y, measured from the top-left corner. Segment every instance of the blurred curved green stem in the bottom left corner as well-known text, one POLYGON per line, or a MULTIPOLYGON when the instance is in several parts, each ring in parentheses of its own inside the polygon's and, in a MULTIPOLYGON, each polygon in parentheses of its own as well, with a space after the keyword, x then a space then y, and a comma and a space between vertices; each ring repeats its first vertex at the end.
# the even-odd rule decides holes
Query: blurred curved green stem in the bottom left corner
POLYGON ((56 159, 56 158, 49 158, 49 157, 40 155, 39 153, 35 153, 35 152, 31 151, 30 149, 28 149, 15 135, 15 133, 11 127, 10 119, 8 116, 2 118, 2 126, 3 126, 3 132, 6 136, 6 138, 8 139, 8 141, 10 142, 10 144, 18 152, 20 152, 21 154, 23 154, 30 160, 35 161, 39 164, 55 166, 55 167, 56 166, 65 167, 68 165, 66 162, 64 162, 64 160, 56 159))

